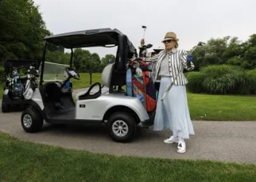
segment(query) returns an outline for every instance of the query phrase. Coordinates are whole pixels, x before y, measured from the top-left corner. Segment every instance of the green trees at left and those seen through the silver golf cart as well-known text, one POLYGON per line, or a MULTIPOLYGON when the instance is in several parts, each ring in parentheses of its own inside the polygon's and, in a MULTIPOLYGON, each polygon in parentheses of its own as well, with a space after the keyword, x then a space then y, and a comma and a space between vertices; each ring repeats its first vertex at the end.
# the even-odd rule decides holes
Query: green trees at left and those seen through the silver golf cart
MULTIPOLYGON (((45 36, 52 35, 45 25, 39 6, 33 0, 0 1, 0 70, 7 59, 41 60, 45 36)), ((114 55, 100 59, 97 53, 76 49, 73 64, 80 72, 101 72, 107 63, 114 62, 114 55)), ((70 53, 49 48, 48 62, 69 64, 70 53)))

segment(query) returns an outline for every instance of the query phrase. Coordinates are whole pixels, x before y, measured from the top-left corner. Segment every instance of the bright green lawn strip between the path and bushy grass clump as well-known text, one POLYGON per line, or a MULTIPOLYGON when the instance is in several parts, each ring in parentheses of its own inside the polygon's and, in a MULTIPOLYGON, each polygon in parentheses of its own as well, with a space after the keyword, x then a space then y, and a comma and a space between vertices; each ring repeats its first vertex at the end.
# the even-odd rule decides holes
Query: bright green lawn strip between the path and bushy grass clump
POLYGON ((256 120, 256 97, 188 93, 188 107, 195 120, 256 120))

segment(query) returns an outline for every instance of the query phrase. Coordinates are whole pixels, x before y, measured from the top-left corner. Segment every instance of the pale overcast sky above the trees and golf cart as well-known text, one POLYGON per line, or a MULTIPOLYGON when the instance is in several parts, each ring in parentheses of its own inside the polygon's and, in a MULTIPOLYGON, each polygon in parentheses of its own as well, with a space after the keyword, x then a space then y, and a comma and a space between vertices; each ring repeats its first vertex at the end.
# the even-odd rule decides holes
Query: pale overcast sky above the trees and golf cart
MULTIPOLYGON (((118 28, 138 47, 162 45, 166 32, 175 32, 179 48, 190 50, 199 41, 256 33, 255 0, 34 0, 53 34, 94 28, 118 28)), ((100 57, 116 48, 88 48, 100 57)))

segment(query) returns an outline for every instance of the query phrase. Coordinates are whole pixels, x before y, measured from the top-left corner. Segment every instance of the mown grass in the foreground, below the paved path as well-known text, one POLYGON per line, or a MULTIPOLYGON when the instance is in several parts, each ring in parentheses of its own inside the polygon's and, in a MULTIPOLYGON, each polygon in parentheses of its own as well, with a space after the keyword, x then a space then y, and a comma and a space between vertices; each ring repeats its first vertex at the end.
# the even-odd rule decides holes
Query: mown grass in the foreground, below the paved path
POLYGON ((1 181, 254 181, 256 165, 114 157, 0 133, 1 181))

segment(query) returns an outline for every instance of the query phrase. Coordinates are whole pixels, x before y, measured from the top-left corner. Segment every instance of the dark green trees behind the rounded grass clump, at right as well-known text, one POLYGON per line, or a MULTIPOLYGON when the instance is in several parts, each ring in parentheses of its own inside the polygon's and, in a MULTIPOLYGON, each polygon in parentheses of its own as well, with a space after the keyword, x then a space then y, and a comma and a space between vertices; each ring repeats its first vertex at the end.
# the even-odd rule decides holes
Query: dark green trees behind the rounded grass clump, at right
POLYGON ((204 66, 229 64, 252 70, 256 68, 256 34, 245 42, 238 37, 225 36, 208 40, 203 47, 193 51, 195 70, 204 66))

